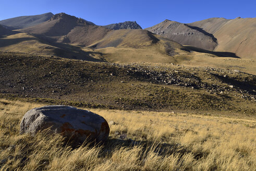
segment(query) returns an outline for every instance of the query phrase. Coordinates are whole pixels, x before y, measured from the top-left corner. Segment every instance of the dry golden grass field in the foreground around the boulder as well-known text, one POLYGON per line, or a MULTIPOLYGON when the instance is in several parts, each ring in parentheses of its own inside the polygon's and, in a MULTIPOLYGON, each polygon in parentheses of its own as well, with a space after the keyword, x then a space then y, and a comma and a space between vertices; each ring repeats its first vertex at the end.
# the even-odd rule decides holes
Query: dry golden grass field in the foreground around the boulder
POLYGON ((111 125, 104 145, 67 146, 58 135, 19 135, 42 104, 0 100, 0 170, 255 170, 255 120, 91 109, 111 125), (121 137, 126 138, 120 139, 121 137))

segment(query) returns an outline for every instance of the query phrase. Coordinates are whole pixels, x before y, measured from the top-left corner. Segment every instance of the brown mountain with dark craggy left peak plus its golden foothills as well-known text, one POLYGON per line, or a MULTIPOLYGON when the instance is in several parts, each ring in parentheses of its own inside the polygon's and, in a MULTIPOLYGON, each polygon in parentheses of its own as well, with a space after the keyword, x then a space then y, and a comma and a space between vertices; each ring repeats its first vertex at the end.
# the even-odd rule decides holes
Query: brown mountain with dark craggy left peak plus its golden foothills
POLYGON ((111 30, 64 13, 0 39, 0 50, 104 62, 173 62, 184 46, 147 30, 111 30))

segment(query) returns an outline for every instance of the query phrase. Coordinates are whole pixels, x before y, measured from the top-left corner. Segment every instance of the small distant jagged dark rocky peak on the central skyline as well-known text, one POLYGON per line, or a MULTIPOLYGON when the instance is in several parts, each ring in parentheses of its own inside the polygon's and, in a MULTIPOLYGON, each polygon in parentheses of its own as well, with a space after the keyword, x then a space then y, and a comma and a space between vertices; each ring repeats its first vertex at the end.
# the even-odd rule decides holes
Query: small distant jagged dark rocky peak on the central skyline
POLYGON ((119 22, 114 23, 111 25, 103 26, 108 29, 112 30, 119 30, 119 29, 142 29, 140 25, 136 21, 125 21, 125 22, 119 22))

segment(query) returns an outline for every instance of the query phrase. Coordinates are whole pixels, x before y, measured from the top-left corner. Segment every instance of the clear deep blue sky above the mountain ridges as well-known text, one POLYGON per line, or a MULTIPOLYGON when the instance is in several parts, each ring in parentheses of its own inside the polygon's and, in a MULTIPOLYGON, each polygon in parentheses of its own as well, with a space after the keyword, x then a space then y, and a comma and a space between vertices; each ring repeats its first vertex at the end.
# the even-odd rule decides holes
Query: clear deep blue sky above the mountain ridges
POLYGON ((63 12, 92 21, 96 25, 137 21, 142 28, 147 28, 165 19, 189 23, 212 17, 254 18, 256 0, 0 0, 0 20, 48 12, 63 12))

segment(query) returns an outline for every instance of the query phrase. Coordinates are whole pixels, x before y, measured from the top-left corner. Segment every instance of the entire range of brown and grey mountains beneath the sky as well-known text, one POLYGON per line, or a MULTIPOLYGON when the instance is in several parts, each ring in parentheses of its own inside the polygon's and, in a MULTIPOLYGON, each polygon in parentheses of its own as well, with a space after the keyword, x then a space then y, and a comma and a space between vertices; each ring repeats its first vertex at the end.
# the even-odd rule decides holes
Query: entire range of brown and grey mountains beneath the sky
POLYGON ((0 51, 95 62, 243 68, 252 65, 246 58, 256 58, 255 25, 256 18, 210 18, 164 20, 142 29, 136 21, 97 26, 65 13, 46 13, 0 21, 0 51), (225 57, 242 59, 235 64, 225 57))

